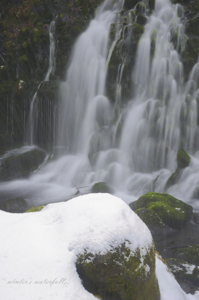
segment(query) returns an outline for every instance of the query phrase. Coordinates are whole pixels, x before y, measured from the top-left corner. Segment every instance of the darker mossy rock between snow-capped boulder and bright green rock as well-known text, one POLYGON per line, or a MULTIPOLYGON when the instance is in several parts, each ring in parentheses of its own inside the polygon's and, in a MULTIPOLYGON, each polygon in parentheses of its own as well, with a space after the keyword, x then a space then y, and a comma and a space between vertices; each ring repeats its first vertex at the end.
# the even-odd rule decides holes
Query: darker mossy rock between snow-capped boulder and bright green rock
POLYGON ((146 224, 152 235, 171 233, 172 229, 154 211, 148 208, 139 208, 135 213, 146 224))

